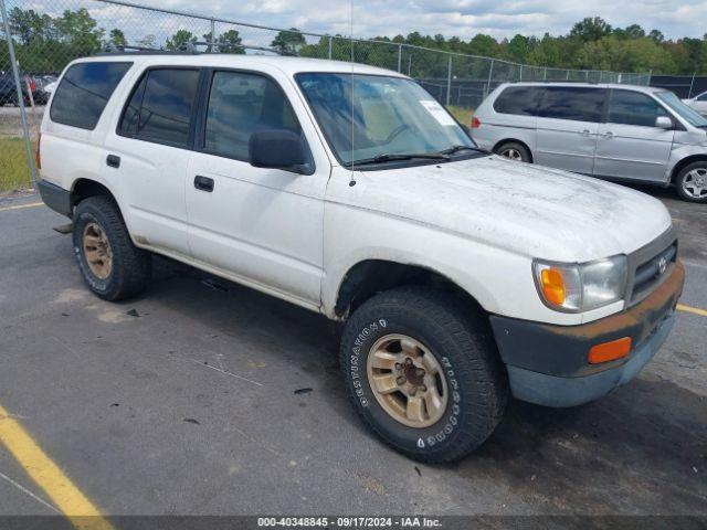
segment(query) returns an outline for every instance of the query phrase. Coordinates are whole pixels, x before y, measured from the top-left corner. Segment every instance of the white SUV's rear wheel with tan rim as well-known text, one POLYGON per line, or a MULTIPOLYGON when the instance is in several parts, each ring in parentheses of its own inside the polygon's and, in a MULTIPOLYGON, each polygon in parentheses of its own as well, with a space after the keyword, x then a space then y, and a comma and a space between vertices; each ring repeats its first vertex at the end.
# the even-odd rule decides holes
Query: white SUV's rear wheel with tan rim
POLYGON ((151 255, 133 244, 112 199, 81 201, 74 212, 72 237, 78 269, 96 296, 117 301, 145 290, 152 272, 151 255))

